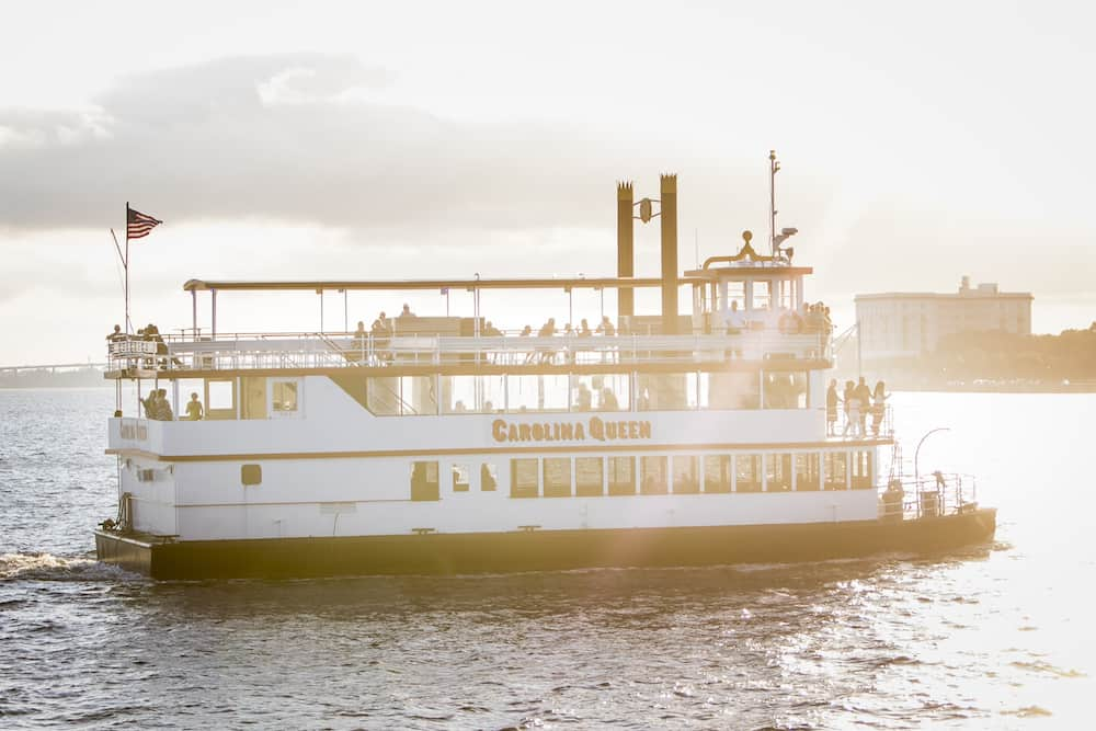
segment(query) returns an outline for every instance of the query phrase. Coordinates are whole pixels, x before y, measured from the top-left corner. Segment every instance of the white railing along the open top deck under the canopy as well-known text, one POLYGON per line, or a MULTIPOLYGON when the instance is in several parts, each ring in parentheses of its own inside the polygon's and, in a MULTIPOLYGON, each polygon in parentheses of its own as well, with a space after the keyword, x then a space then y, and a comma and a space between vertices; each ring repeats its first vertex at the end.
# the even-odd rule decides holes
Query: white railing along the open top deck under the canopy
POLYGON ((518 334, 456 336, 355 333, 230 333, 160 342, 119 339, 109 347, 112 369, 251 369, 352 366, 667 363, 696 365, 726 361, 823 359, 832 362, 823 333, 750 331, 694 335, 518 334))

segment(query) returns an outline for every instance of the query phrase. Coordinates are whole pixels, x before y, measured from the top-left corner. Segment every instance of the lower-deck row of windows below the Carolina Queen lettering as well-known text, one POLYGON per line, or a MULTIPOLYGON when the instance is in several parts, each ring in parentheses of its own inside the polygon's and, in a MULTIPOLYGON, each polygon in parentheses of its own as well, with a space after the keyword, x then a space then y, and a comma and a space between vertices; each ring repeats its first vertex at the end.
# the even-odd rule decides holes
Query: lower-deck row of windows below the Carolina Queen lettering
MULTIPOLYGON (((517 457, 510 460, 511 498, 597 498, 728 492, 870 490, 871 452, 517 457)), ((472 488, 472 466, 449 465, 453 492, 472 488)), ((411 466, 411 499, 439 500, 438 461, 411 466)), ((479 489, 499 487, 498 466, 480 462, 479 489)))

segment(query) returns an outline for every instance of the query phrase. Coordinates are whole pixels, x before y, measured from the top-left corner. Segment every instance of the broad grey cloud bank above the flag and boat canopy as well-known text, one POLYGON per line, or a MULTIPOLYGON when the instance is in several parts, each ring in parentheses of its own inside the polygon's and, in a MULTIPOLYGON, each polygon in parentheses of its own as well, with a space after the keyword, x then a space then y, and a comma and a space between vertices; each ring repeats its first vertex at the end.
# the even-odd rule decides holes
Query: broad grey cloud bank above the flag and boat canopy
POLYGON ((124 79, 89 110, 0 111, 0 226, 104 227, 125 201, 168 222, 612 226, 636 150, 368 101, 391 81, 351 56, 228 58, 124 79))

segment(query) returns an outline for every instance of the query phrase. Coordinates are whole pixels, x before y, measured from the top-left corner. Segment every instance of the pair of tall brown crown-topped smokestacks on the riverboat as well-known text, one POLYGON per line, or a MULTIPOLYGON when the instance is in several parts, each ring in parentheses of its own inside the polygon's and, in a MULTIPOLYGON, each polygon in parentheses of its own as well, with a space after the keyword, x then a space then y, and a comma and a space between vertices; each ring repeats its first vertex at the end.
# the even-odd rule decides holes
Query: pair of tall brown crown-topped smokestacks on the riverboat
MULTIPOLYGON (((677 333, 677 175, 660 175, 660 212, 662 229, 662 332, 677 333)), ((646 198, 644 198, 646 199, 646 198)), ((642 201, 640 205, 642 205, 642 201)), ((636 276, 635 251, 636 202, 631 182, 617 183, 617 276, 636 276)), ((642 209, 641 209, 642 212, 642 209)), ((647 215, 650 215, 649 209, 647 215)), ((647 222, 643 218, 640 218, 647 222)), ((621 317, 636 313, 636 292, 631 287, 617 289, 617 309, 621 317)))

